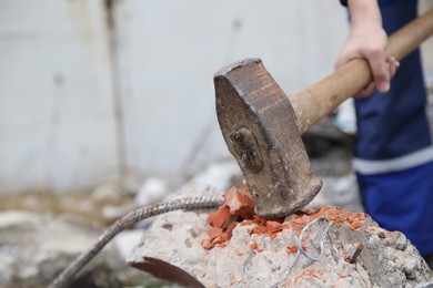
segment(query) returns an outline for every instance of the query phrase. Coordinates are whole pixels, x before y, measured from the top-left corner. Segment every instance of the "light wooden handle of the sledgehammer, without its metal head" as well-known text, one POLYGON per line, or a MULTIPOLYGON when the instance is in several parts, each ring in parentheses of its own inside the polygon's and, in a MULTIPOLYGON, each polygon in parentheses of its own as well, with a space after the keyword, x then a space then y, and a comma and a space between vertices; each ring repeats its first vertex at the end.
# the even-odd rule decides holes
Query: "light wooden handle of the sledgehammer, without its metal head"
MULTIPOLYGON (((433 33, 433 9, 416 18, 387 41, 386 54, 403 59, 433 33)), ((354 59, 320 82, 290 97, 302 135, 316 121, 334 111, 372 81, 365 59, 354 59)))

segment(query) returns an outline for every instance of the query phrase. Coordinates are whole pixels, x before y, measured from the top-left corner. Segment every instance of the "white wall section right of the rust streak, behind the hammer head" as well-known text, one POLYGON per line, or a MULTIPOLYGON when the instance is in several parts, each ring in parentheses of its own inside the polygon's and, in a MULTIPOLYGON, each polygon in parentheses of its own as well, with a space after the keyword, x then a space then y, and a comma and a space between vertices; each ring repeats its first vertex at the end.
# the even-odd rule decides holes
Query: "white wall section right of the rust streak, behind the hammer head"
POLYGON ((345 32, 338 1, 119 2, 115 11, 127 163, 178 174, 226 155, 213 74, 259 56, 289 92, 332 71, 345 32))

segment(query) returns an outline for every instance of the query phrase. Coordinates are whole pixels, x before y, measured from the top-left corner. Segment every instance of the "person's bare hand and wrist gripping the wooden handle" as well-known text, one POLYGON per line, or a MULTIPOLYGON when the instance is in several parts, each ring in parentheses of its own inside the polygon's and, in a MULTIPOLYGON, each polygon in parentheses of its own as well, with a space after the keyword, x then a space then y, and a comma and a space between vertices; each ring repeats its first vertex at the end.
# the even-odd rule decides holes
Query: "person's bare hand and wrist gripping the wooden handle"
POLYGON ((385 53, 387 35, 382 28, 382 18, 376 0, 349 1, 352 18, 349 37, 335 62, 335 69, 355 58, 369 61, 373 81, 355 96, 365 97, 375 90, 387 92, 390 80, 400 63, 385 53))

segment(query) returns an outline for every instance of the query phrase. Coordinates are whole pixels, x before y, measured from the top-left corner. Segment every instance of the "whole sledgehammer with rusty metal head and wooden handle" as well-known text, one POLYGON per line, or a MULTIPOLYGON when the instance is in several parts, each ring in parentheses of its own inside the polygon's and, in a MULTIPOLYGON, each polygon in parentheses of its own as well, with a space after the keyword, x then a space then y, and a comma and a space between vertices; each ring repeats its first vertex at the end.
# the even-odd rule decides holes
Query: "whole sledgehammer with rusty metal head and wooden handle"
MULTIPOLYGON (((401 60, 433 33, 433 10, 389 38, 401 60)), ((372 80, 369 63, 353 60, 290 100, 260 59, 235 62, 214 76, 216 114, 258 215, 283 217, 309 204, 322 187, 301 135, 372 80)))

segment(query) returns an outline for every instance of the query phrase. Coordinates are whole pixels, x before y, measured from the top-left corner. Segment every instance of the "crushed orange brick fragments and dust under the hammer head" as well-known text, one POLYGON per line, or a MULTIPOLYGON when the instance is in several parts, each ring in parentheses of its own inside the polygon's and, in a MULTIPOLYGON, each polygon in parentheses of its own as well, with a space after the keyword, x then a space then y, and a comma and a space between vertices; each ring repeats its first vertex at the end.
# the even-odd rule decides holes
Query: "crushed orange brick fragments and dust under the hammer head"
MULTIPOLYGON (((335 224, 348 223, 351 229, 362 227, 365 220, 365 214, 345 212, 338 207, 325 206, 314 213, 308 210, 296 212, 290 222, 284 218, 265 219, 254 213, 254 203, 250 191, 244 183, 230 188, 224 195, 222 206, 208 217, 209 239, 202 244, 203 248, 212 249, 215 246, 225 247, 232 237, 232 232, 238 225, 253 225, 249 233, 258 235, 268 235, 272 239, 284 228, 293 228, 296 236, 311 222, 319 217, 326 217, 335 224)), ((251 249, 261 251, 255 243, 250 245, 251 249)), ((288 253, 296 253, 296 246, 288 246, 288 253)))

